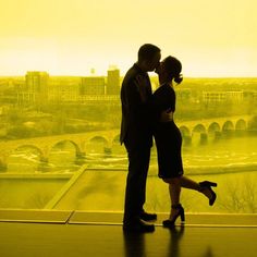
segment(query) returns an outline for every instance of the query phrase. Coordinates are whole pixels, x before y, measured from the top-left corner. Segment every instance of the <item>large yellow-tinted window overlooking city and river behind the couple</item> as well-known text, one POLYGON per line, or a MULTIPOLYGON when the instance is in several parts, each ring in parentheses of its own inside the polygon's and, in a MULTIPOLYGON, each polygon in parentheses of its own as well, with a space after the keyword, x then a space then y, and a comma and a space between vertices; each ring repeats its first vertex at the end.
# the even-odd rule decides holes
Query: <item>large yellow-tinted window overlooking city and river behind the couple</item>
MULTIPOLYGON (((123 211, 120 87, 152 42, 183 65, 185 175, 218 183, 211 208, 183 189, 186 211, 256 212, 255 0, 12 0, 0 10, 0 208, 123 211)), ((154 146, 146 208, 169 211, 157 174, 154 146)))

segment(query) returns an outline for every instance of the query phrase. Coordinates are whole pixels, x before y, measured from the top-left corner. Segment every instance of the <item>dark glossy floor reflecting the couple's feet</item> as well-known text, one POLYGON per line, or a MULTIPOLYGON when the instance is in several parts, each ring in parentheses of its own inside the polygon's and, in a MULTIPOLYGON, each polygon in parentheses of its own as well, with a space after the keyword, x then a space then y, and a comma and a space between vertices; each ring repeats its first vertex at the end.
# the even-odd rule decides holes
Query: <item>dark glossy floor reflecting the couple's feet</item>
POLYGON ((120 223, 121 213, 79 212, 76 217, 74 212, 70 216, 68 212, 40 212, 48 221, 38 215, 33 219, 33 211, 30 220, 25 221, 21 219, 24 213, 16 211, 10 220, 0 213, 1 257, 257 256, 257 216, 187 215, 184 227, 163 229, 159 220, 154 233, 125 235, 120 223), (61 215, 62 219, 66 215, 68 219, 59 222, 54 217, 53 221, 51 213, 61 215), (40 222, 36 222, 38 217, 40 222))

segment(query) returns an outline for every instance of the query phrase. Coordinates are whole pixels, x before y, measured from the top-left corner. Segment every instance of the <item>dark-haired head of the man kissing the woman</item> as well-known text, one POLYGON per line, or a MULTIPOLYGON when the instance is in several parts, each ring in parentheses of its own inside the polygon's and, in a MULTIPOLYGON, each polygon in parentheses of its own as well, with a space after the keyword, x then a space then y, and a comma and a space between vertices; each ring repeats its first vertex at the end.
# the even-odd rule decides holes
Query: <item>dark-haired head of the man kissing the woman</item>
POLYGON ((151 44, 143 45, 138 50, 138 61, 139 66, 146 71, 155 71, 155 69, 160 63, 160 48, 151 44))

